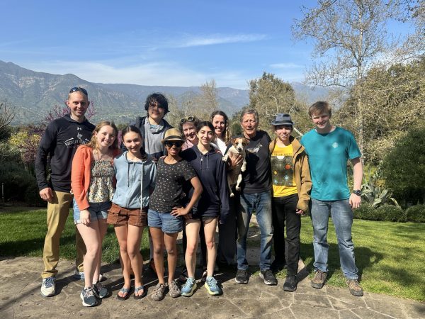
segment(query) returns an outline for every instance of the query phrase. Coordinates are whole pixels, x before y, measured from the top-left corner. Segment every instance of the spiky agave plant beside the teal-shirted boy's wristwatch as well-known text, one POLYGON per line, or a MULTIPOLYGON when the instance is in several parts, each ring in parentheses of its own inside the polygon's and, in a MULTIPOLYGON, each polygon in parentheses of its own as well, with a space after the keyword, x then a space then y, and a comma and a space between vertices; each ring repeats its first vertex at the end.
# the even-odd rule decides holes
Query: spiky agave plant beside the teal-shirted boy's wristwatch
POLYGON ((380 169, 377 169, 375 174, 361 186, 361 197, 373 208, 378 208, 384 204, 400 207, 396 199, 392 197, 392 190, 385 189, 380 175, 380 169))

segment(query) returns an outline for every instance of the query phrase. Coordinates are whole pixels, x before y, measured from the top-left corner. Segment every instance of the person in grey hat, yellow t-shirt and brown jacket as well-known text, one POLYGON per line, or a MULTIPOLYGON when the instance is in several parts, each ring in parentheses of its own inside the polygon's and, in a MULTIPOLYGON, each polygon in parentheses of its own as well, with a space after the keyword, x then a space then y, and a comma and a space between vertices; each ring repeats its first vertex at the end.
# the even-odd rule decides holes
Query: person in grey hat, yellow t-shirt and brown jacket
POLYGON ((271 122, 276 133, 269 149, 273 184, 273 242, 275 270, 288 266, 283 284, 285 291, 297 289, 298 259, 300 257, 300 216, 310 200, 310 170, 304 147, 290 134, 293 121, 289 114, 278 114, 271 122), (285 252, 284 228, 288 251, 285 252))

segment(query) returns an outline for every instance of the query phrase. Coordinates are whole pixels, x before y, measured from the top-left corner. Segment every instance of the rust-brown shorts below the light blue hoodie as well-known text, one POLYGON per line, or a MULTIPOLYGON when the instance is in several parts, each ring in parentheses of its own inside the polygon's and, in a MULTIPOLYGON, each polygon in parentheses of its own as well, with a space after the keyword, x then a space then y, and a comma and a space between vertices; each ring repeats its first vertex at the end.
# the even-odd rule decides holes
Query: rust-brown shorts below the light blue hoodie
POLYGON ((108 224, 147 227, 147 207, 129 209, 112 203, 108 211, 108 224))

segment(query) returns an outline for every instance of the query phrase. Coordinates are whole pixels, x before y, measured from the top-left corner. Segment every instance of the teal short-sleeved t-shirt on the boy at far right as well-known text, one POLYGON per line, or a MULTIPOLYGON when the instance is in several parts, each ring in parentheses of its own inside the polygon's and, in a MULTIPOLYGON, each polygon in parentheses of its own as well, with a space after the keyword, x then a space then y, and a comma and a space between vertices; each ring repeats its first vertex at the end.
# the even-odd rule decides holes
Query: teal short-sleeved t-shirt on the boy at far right
POLYGON ((339 127, 327 134, 310 130, 302 136, 301 144, 310 164, 311 198, 319 201, 349 198, 347 160, 361 157, 353 134, 339 127))

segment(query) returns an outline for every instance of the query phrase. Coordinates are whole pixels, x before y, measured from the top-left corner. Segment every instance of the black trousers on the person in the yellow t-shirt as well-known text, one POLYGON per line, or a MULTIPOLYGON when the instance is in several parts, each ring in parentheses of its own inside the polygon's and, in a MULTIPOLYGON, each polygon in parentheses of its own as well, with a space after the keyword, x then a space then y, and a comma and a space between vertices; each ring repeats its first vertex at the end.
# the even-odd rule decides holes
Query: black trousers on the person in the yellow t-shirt
POLYGON ((295 213, 298 195, 273 197, 273 245, 275 259, 288 265, 288 274, 296 275, 298 272, 298 259, 300 258, 300 230, 301 216, 295 213), (285 230, 286 224, 286 251, 285 230))

